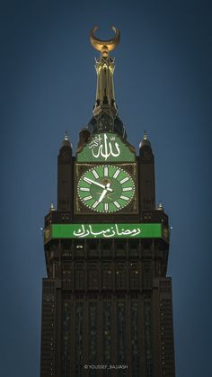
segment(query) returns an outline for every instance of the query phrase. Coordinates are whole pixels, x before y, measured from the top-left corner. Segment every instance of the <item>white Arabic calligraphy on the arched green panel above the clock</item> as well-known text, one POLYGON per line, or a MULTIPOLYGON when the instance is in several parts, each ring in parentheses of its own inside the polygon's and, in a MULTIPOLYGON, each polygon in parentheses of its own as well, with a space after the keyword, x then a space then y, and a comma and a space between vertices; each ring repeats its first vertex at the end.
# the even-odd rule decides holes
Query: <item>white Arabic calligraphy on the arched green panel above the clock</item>
POLYGON ((109 138, 105 133, 103 139, 100 135, 97 135, 90 143, 89 148, 92 149, 92 154, 94 158, 102 156, 106 161, 110 156, 119 156, 119 143, 115 142, 115 137, 110 137, 110 141, 108 141, 108 139, 109 138))

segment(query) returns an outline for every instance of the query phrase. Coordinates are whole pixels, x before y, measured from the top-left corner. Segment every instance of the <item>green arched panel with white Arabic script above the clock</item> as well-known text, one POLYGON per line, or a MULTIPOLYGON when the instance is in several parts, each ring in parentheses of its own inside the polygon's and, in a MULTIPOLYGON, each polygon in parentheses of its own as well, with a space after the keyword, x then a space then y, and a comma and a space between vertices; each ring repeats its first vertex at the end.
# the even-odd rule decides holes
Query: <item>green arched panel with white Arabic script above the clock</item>
POLYGON ((76 162, 134 162, 135 151, 116 133, 98 133, 76 154, 76 162))

